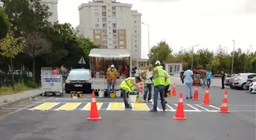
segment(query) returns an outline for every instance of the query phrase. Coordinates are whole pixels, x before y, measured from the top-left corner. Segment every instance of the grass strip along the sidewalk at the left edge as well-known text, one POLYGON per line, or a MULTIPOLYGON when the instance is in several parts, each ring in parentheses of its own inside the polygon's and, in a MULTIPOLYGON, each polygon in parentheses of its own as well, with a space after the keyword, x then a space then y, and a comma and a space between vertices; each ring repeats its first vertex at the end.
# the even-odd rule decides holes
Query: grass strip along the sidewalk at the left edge
POLYGON ((11 95, 18 92, 23 92, 30 89, 36 89, 37 83, 35 82, 19 82, 14 85, 14 91, 12 90, 11 86, 3 86, 0 87, 0 96, 1 95, 11 95))

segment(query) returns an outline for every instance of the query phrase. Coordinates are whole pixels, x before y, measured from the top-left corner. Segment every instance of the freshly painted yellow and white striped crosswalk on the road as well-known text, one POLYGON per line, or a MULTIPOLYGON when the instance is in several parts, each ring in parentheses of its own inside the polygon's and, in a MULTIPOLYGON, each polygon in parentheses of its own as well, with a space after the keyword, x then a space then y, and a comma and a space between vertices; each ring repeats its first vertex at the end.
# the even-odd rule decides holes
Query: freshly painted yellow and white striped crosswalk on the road
MULTIPOLYGON (((148 111, 152 109, 152 103, 132 103, 134 111, 148 111)), ((123 102, 98 102, 98 110, 126 110, 123 102)), ((167 111, 175 111, 178 104, 166 104, 167 111)), ((90 110, 89 102, 44 102, 37 103, 28 110, 90 110)), ((162 110, 162 105, 158 104, 158 110, 162 110)), ((217 112, 219 107, 213 105, 184 104, 185 112, 217 112)))

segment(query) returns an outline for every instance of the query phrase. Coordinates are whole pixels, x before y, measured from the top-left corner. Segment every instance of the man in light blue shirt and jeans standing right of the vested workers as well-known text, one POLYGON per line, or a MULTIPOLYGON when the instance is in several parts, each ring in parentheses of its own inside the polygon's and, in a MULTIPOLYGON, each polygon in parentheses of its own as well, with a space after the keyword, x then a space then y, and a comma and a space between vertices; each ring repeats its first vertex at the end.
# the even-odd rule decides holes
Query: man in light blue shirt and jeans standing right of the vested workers
POLYGON ((191 67, 187 67, 187 70, 184 72, 185 76, 185 92, 186 92, 186 99, 193 98, 192 96, 192 84, 194 81, 194 73, 191 70, 191 67))

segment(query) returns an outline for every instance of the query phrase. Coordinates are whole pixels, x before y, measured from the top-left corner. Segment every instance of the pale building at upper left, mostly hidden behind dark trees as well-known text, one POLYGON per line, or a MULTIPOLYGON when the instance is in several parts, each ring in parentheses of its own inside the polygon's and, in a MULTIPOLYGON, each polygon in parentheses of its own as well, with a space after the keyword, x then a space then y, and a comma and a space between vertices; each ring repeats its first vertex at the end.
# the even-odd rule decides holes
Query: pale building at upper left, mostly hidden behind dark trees
POLYGON ((49 11, 52 16, 49 17, 49 21, 54 23, 58 21, 58 0, 41 0, 41 3, 49 7, 49 11))

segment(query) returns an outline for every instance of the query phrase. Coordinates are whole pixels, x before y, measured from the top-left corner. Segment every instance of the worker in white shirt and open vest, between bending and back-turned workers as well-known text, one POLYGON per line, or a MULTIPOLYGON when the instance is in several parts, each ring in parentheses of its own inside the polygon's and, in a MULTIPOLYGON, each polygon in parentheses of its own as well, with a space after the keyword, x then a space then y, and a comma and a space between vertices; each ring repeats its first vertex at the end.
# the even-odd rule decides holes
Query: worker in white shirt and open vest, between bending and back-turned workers
POLYGON ((148 101, 151 102, 152 98, 152 89, 153 89, 153 82, 152 82, 152 64, 149 64, 149 68, 142 72, 142 79, 145 80, 144 85, 144 95, 143 95, 143 102, 146 102, 146 97, 149 92, 148 101))

